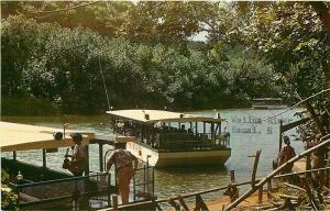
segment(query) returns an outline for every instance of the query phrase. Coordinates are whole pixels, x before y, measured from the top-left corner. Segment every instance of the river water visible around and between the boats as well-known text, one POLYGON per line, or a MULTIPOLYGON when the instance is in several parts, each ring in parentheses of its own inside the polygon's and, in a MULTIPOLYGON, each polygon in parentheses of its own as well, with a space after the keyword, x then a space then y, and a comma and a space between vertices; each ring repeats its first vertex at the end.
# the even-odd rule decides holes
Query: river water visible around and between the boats
MULTIPOLYGON (((207 116, 216 115, 228 120, 228 124, 222 125, 222 130, 230 132, 231 157, 224 166, 219 167, 190 167, 190 168, 165 168, 155 170, 155 195, 160 198, 167 198, 178 193, 206 190, 228 185, 230 170, 235 170, 238 181, 245 181, 251 178, 253 157, 257 149, 261 149, 261 158, 257 169, 257 177, 266 176, 272 171, 272 160, 278 153, 279 120, 289 123, 296 120, 294 114, 298 110, 212 110, 194 112, 207 116)), ((88 130, 100 133, 111 133, 109 129, 109 116, 47 116, 47 118, 18 118, 2 116, 2 121, 29 123, 61 129, 63 123, 69 123, 70 129, 88 130)), ((304 149, 302 143, 296 140, 296 131, 286 132, 292 140, 292 145, 299 153, 304 149)), ((107 151, 107 147, 105 148, 107 151)), ((59 148, 57 153, 47 154, 47 166, 50 168, 62 169, 65 148, 59 148)), ((11 154, 2 153, 1 156, 11 157, 11 154)), ((90 146, 90 169, 98 171, 98 146, 90 146)), ((42 165, 41 151, 19 152, 18 159, 28 163, 42 165)), ((244 189, 244 188, 243 188, 244 189)), ((211 193, 206 198, 219 197, 211 193)))

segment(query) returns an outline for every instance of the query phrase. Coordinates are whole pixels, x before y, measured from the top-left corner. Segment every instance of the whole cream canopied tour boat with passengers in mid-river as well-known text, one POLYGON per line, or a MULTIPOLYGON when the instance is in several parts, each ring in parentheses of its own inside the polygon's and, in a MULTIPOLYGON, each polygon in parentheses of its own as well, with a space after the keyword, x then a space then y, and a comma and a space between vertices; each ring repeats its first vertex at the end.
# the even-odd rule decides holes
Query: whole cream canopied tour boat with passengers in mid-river
POLYGON ((134 136, 127 149, 151 166, 223 165, 230 157, 227 120, 164 110, 117 110, 113 132, 134 136))

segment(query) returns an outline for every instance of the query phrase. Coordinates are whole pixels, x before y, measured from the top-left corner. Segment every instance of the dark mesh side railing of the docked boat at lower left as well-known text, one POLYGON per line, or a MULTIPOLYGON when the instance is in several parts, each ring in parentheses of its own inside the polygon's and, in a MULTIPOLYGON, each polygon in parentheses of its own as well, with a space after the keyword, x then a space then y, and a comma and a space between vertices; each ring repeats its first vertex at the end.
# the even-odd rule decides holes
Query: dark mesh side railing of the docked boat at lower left
MULTIPOLYGON (((112 176, 113 177, 113 176, 112 176)), ((113 179, 112 179, 113 180, 113 179)), ((111 174, 95 174, 80 177, 69 177, 38 182, 19 181, 10 184, 18 193, 19 207, 23 210, 43 210, 54 204, 72 208, 73 201, 86 201, 79 204, 88 208, 89 200, 94 197, 110 196, 116 192, 116 186, 111 182, 111 174), (111 185, 112 184, 112 185, 111 185)))

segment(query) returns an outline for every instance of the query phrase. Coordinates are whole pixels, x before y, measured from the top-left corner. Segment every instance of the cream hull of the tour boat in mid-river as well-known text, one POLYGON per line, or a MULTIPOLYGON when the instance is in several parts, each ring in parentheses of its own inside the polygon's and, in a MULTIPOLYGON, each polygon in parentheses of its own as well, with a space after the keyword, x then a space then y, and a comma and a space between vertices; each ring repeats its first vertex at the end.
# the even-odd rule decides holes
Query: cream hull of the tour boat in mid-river
POLYGON ((157 152, 139 142, 127 143, 129 149, 139 159, 155 167, 223 165, 230 157, 231 149, 204 149, 188 152, 157 152))

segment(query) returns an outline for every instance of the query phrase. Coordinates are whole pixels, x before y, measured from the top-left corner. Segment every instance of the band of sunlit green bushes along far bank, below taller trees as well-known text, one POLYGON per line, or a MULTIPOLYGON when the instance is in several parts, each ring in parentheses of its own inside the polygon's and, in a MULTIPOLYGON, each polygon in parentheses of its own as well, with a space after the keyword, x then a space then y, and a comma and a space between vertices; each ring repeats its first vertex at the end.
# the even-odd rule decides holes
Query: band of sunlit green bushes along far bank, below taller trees
POLYGON ((276 93, 272 67, 240 47, 140 44, 11 16, 2 24, 2 51, 3 96, 46 98, 68 113, 108 108, 102 74, 114 108, 235 107, 276 93))

